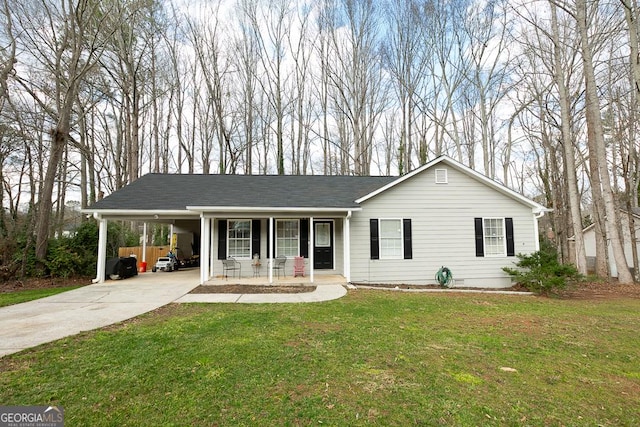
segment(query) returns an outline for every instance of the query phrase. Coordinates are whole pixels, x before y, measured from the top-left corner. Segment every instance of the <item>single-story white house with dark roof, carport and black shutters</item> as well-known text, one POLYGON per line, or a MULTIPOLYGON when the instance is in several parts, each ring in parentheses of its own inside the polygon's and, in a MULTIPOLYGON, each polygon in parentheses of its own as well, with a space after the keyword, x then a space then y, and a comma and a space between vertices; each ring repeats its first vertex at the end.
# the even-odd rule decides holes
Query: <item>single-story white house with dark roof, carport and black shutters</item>
POLYGON ((85 211, 100 221, 101 262, 107 220, 172 223, 201 283, 230 256, 250 274, 257 254, 304 257, 312 282, 430 284, 446 266, 457 286, 508 287, 502 267, 539 249, 548 209, 442 156, 401 177, 149 174, 85 211))

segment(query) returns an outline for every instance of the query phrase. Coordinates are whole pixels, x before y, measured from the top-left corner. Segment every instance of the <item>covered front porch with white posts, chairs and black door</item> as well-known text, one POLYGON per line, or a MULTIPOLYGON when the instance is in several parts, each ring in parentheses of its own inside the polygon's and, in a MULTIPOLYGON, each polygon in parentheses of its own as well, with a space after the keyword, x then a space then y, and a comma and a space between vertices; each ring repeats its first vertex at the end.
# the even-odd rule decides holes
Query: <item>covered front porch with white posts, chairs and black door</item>
POLYGON ((200 213, 200 283, 346 283, 351 211, 200 213))

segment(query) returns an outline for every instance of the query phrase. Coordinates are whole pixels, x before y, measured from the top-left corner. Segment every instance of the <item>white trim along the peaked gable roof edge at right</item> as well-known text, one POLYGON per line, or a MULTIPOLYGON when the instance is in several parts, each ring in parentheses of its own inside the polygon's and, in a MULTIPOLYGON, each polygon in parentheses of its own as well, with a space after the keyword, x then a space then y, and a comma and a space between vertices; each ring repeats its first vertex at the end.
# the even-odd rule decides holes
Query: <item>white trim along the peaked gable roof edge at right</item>
POLYGON ((527 197, 524 197, 523 195, 511 190, 508 187, 505 187, 504 185, 489 179, 488 177, 486 177, 485 175, 482 175, 481 173, 476 172, 475 170, 463 165, 462 163, 459 163, 455 160, 453 160, 451 157, 448 156, 440 156, 428 163, 425 163, 424 165, 422 165, 421 167, 395 179, 394 181, 384 185, 383 187, 380 187, 374 191, 372 191, 371 193, 359 198, 356 200, 356 203, 360 204, 362 202, 365 202, 375 196, 377 196, 378 194, 381 194, 385 191, 391 190, 393 187, 395 187, 396 185, 413 178, 416 175, 421 174, 422 172, 431 169, 437 165, 441 165, 441 164, 445 164, 448 165, 466 175, 468 175, 469 177, 475 179, 476 181, 481 182, 482 184, 488 186, 489 188, 498 191, 499 193, 505 194, 506 196, 526 205, 531 207, 531 209, 534 212, 547 212, 550 211, 550 209, 544 207, 543 205, 534 202, 531 199, 528 199, 527 197))

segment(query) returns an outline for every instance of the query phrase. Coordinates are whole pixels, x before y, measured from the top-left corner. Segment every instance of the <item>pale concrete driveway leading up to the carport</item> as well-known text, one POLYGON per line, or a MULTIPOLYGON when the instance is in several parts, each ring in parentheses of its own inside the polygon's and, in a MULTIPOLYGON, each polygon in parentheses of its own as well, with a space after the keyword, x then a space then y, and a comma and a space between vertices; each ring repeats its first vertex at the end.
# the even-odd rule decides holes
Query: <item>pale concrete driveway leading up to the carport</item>
POLYGON ((0 357, 155 310, 198 286, 197 268, 89 285, 0 308, 0 357))

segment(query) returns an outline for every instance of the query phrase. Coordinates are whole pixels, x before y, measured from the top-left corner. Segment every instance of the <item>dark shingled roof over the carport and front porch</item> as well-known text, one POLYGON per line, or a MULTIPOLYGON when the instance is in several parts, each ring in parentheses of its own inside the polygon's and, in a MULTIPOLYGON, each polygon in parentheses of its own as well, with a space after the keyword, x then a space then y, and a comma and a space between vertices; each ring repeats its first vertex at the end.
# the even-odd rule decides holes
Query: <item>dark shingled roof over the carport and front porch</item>
POLYGON ((148 174, 88 210, 184 210, 187 206, 354 208, 396 177, 148 174))

